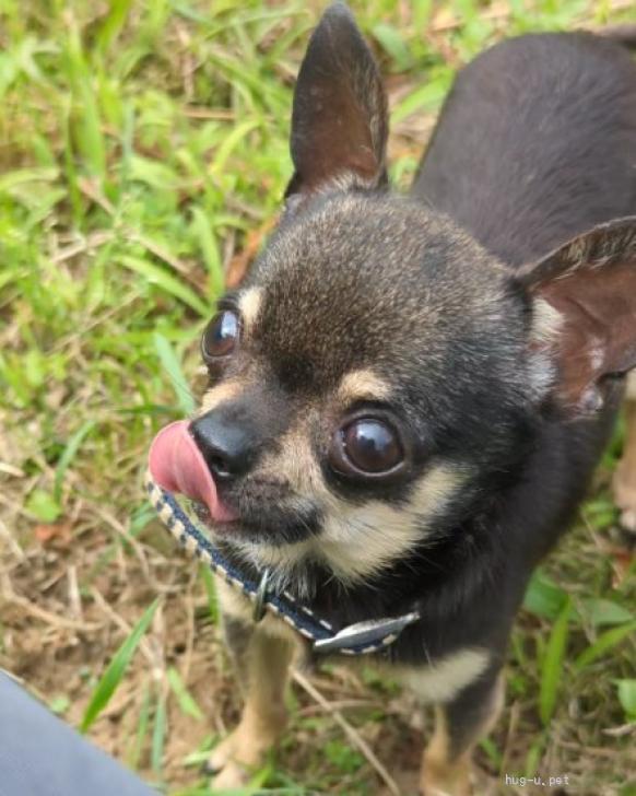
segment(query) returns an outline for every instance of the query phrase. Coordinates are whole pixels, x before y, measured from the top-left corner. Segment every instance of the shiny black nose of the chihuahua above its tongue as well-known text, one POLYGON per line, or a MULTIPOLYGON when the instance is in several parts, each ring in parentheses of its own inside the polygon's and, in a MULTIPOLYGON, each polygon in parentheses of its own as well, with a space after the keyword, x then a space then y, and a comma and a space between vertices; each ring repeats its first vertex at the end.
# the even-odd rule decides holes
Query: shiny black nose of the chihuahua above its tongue
POLYGON ((240 414, 220 407, 190 424, 195 442, 210 471, 220 480, 228 481, 245 475, 254 460, 257 441, 249 420, 242 419, 240 414))

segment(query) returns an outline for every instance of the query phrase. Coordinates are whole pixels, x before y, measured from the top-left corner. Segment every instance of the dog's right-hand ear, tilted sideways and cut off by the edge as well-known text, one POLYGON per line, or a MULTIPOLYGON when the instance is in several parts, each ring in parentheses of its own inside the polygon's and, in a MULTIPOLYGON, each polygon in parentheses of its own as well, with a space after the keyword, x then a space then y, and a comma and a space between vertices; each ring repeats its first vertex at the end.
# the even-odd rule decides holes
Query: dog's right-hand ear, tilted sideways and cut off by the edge
POLYGON ((556 366, 558 403, 599 410, 603 381, 636 367, 636 216, 579 235, 519 278, 535 316, 550 318, 535 344, 556 366))

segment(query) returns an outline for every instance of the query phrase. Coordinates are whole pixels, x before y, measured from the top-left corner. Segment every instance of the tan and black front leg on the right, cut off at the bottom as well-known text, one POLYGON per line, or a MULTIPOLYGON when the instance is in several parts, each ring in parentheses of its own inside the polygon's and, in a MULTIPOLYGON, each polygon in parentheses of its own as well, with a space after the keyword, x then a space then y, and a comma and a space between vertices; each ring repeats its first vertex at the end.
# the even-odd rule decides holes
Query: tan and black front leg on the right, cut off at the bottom
POLYGON ((422 761, 422 796, 470 794, 473 748, 497 721, 503 698, 503 676, 488 672, 435 707, 435 733, 422 761))

